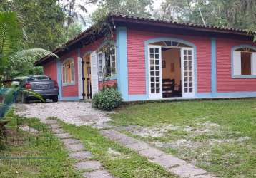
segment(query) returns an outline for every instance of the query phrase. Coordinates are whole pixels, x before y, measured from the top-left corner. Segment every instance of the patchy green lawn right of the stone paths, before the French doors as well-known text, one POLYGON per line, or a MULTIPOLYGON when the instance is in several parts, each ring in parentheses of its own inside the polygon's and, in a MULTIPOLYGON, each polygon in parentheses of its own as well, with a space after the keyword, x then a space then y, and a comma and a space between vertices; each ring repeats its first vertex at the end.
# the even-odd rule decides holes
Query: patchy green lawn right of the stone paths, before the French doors
POLYGON ((256 177, 256 99, 125 105, 112 125, 220 177, 256 177))

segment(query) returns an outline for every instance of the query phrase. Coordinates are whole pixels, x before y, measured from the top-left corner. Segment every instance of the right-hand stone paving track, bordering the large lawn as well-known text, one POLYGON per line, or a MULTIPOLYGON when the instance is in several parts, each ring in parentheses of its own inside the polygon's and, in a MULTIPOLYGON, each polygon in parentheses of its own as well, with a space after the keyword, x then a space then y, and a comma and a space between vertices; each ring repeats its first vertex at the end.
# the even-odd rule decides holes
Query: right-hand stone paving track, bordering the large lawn
POLYGON ((124 147, 128 147, 136 152, 139 155, 147 157, 149 161, 154 162, 156 164, 161 165, 168 172, 172 174, 176 174, 179 177, 197 177, 197 178, 214 178, 212 174, 205 171, 204 169, 200 169, 195 167, 192 164, 185 162, 182 159, 174 157, 173 155, 169 155, 161 150, 158 150, 154 147, 151 147, 145 142, 134 139, 133 137, 129 137, 124 135, 116 130, 100 130, 102 135, 108 137, 110 140, 114 140, 119 142, 119 144, 124 145, 124 147))

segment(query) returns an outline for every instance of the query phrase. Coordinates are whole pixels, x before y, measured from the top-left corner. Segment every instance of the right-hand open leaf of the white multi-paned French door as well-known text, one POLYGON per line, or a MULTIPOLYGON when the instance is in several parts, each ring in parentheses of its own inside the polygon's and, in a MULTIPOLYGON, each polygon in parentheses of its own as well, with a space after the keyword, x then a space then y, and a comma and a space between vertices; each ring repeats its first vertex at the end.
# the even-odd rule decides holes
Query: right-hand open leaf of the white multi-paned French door
POLYGON ((182 48, 182 97, 195 96, 194 51, 182 48))

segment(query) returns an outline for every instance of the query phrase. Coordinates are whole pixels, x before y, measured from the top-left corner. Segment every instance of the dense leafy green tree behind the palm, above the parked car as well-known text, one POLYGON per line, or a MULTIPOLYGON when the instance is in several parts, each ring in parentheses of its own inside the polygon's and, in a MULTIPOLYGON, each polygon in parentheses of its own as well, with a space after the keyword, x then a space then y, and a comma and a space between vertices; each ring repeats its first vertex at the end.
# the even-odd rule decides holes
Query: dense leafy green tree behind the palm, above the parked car
MULTIPOLYGON (((24 33, 19 41, 19 49, 45 48, 52 51, 82 31, 82 26, 75 19, 69 26, 66 25, 66 11, 58 5, 57 0, 0 1, 1 11, 15 11, 18 14, 19 23, 21 23, 24 33)), ((41 67, 33 66, 36 60, 38 58, 27 58, 26 62, 15 65, 10 63, 8 68, 11 70, 8 70, 8 75, 13 77, 15 75, 42 74, 41 67)))

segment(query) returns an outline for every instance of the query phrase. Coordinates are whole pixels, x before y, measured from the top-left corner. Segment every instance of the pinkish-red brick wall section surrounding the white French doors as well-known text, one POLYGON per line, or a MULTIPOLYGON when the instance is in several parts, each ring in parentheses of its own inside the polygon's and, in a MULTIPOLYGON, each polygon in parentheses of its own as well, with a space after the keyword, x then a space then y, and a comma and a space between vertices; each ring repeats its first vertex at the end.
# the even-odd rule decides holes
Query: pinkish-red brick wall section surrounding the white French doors
POLYGON ((144 41, 159 37, 180 38, 197 46, 197 93, 211 91, 211 39, 127 29, 129 95, 146 94, 144 41))

